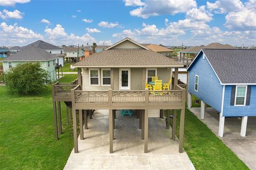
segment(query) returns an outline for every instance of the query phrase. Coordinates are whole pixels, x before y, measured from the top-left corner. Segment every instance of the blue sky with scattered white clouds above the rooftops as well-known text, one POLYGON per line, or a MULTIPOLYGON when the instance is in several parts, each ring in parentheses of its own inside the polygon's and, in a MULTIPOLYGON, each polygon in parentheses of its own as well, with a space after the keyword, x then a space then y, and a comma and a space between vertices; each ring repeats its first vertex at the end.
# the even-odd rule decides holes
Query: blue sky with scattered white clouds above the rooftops
POLYGON ((1 46, 140 43, 256 45, 256 0, 0 0, 1 46))

